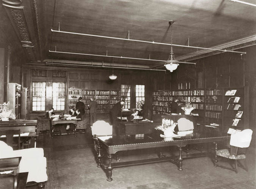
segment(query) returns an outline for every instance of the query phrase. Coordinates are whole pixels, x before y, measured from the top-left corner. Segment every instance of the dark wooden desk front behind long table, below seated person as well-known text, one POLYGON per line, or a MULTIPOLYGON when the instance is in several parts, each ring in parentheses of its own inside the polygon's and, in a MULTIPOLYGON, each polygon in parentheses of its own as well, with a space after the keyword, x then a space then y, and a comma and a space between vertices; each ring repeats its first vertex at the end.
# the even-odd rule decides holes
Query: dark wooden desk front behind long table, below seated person
POLYGON ((162 123, 150 122, 150 121, 139 121, 134 122, 117 122, 116 133, 117 135, 136 135, 136 134, 149 134, 153 133, 155 127, 162 123))

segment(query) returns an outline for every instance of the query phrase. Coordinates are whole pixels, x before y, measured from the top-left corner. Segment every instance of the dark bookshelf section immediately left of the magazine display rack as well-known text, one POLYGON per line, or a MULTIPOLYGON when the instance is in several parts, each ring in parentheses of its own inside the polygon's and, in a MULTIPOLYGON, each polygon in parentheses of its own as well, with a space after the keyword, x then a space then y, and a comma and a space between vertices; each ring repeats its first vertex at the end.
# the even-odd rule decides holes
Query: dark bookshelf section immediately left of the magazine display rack
POLYGON ((222 127, 223 90, 213 89, 205 91, 205 124, 222 127), (212 125, 214 124, 214 125, 212 125))

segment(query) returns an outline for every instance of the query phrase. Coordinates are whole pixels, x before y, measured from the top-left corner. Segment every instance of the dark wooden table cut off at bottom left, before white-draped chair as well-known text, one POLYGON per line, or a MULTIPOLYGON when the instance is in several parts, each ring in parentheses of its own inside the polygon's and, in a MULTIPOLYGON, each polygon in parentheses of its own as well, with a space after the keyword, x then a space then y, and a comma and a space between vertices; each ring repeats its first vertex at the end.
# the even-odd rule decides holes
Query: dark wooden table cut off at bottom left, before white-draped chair
POLYGON ((13 172, 9 174, 2 174, 1 177, 14 175, 14 189, 17 188, 17 169, 19 167, 20 159, 21 157, 0 159, 0 172, 13 170, 13 172))

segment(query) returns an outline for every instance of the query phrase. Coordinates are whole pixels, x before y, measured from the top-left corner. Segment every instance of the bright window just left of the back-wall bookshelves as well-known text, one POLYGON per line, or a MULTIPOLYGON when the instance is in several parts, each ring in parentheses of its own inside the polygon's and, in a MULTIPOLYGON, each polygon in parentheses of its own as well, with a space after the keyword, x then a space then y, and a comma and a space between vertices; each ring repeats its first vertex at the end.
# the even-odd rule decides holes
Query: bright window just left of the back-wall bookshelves
POLYGON ((65 109, 65 83, 52 82, 52 107, 54 110, 65 109))

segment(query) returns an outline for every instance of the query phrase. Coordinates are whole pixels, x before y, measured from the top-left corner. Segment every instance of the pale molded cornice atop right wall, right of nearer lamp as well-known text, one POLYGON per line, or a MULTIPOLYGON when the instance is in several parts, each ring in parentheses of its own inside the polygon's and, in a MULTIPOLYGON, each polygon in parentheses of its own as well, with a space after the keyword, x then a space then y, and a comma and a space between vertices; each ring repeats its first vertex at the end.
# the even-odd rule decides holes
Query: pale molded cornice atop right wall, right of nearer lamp
MULTIPOLYGON (((247 46, 255 45, 256 44, 256 35, 244 37, 242 39, 234 40, 232 42, 223 43, 221 45, 217 46, 211 46, 209 48, 215 48, 220 50, 236 50, 239 48, 244 48, 247 46)), ((223 51, 215 51, 215 50, 201 50, 189 54, 185 54, 184 56, 179 56, 176 58, 176 60, 182 61, 182 62, 188 62, 191 60, 212 56, 214 54, 220 54, 223 53, 223 51)))

